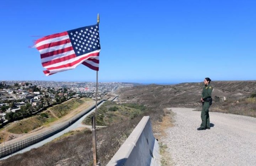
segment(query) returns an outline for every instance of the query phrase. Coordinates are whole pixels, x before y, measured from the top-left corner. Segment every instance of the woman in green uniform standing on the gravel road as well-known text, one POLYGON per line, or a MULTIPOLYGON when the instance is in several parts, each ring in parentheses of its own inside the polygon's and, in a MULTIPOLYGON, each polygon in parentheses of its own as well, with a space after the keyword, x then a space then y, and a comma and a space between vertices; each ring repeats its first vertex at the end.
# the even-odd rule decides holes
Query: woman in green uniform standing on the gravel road
POLYGON ((210 117, 209 117, 209 107, 212 105, 212 89, 210 84, 212 80, 208 77, 204 79, 204 89, 201 96, 201 102, 203 104, 203 109, 201 112, 202 123, 197 130, 210 129, 210 117))

